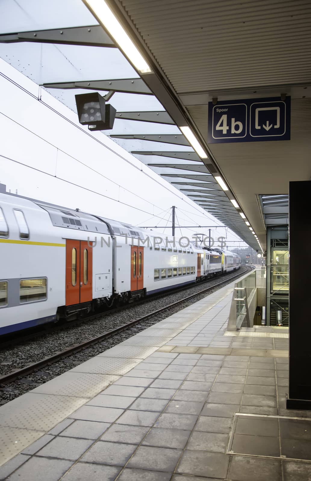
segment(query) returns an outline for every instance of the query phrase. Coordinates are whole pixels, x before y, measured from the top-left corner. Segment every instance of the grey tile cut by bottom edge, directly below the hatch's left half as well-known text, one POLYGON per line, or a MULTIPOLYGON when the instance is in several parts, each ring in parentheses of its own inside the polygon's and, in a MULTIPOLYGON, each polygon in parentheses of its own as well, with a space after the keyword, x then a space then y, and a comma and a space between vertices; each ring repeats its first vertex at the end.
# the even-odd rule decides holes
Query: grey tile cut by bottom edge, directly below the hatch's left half
POLYGON ((232 456, 228 479, 233 481, 281 481, 281 461, 252 456, 232 456))

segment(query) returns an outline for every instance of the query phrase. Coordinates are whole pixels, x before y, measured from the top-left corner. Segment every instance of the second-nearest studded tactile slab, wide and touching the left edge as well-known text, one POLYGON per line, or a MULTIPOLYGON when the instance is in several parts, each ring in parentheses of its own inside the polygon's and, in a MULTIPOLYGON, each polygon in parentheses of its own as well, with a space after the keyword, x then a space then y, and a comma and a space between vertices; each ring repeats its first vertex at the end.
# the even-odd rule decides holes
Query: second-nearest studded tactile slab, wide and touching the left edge
POLYGON ((27 392, 0 407, 0 426, 49 431, 88 401, 83 397, 27 392))

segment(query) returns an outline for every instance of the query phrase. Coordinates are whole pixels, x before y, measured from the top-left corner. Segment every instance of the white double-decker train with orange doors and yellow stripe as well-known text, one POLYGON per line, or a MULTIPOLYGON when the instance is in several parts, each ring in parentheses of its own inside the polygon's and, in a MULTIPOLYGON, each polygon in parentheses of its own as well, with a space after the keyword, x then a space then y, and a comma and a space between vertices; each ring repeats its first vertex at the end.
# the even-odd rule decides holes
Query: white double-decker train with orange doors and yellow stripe
POLYGON ((0 192, 0 335, 75 319, 240 268, 229 251, 160 238, 0 192))

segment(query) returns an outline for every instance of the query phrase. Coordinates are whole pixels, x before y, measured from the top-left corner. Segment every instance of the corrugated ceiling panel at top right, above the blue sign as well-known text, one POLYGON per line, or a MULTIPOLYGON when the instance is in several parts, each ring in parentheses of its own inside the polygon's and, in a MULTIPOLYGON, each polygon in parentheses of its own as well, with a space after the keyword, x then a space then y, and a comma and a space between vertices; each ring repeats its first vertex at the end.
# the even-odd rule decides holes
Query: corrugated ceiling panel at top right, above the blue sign
POLYGON ((119 1, 178 93, 310 81, 310 1, 119 1))

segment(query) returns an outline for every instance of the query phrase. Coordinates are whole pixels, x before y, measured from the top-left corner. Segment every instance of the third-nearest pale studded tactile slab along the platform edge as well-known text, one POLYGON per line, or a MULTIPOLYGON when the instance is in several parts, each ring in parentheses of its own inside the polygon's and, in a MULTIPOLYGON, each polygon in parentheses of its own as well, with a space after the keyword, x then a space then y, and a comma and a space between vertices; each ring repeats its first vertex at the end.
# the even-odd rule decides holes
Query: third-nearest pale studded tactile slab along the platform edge
POLYGON ((91 398, 103 391, 103 389, 118 378, 119 376, 67 371, 61 376, 41 384, 41 386, 32 392, 91 398))

